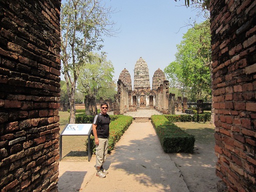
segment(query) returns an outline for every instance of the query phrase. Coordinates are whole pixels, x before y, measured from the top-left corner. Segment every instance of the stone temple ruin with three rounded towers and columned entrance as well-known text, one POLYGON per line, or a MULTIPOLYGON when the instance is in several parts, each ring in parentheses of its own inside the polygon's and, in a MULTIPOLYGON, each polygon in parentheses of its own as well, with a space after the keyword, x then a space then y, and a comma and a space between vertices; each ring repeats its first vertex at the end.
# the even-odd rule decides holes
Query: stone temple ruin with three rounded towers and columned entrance
POLYGON ((137 109, 156 109, 163 113, 171 113, 168 92, 168 80, 158 68, 152 77, 150 88, 149 73, 146 61, 139 57, 134 66, 133 89, 129 71, 124 68, 117 81, 117 94, 113 103, 114 114, 123 114, 137 109))

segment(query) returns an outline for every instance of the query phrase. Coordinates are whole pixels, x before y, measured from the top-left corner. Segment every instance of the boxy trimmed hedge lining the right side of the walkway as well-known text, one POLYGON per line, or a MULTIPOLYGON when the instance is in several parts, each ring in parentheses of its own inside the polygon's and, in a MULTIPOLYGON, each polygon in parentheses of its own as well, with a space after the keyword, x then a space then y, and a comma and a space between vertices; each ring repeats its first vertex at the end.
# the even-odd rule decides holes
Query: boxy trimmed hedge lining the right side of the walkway
POLYGON ((165 115, 152 115, 151 122, 164 152, 193 152, 194 135, 171 123, 165 115))

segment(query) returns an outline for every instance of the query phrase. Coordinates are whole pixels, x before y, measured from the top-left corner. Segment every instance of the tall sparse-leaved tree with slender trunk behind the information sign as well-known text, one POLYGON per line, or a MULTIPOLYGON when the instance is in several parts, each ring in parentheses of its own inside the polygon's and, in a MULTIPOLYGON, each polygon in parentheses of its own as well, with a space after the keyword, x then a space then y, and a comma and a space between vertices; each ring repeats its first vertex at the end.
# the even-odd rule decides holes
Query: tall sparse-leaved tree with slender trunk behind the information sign
POLYGON ((70 104, 70 123, 75 123, 75 87, 79 71, 91 59, 88 54, 99 50, 102 35, 114 33, 113 13, 101 0, 65 0, 61 5, 61 60, 70 104))

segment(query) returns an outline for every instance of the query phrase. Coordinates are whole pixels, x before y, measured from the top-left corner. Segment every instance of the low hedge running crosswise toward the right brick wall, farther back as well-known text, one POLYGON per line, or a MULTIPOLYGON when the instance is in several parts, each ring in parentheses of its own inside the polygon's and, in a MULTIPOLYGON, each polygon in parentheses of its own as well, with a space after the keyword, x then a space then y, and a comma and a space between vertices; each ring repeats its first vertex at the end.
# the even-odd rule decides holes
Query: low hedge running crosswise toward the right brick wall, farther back
POLYGON ((202 114, 165 114, 164 115, 170 122, 205 122, 210 121, 210 112, 202 114))

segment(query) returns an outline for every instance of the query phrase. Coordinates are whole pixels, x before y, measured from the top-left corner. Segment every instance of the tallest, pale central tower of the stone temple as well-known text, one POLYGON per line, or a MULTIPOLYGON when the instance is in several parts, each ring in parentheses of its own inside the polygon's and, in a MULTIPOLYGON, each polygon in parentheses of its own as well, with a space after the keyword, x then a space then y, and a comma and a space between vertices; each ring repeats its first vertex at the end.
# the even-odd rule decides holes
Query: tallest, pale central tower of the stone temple
POLYGON ((136 61, 134 67, 134 90, 150 90, 149 73, 147 63, 142 57, 136 61))

